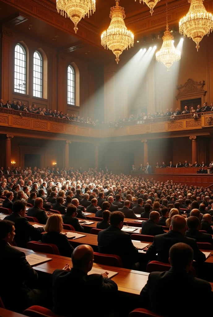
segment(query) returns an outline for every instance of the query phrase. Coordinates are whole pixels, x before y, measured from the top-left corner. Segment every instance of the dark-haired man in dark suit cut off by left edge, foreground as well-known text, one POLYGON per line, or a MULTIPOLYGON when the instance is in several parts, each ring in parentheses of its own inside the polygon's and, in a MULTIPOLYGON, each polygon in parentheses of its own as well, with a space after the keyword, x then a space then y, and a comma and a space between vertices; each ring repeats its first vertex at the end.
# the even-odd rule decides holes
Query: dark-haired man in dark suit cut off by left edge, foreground
MULTIPOLYGON (((42 305, 42 291, 35 288, 38 280, 36 271, 29 265, 24 252, 10 246, 15 236, 15 223, 0 221, 0 269, 7 268, 10 274, 2 274, 0 297, 6 309, 22 313, 31 305, 42 305), (13 300, 8 296, 13 288, 13 300)), ((42 305, 43 306, 43 305, 42 305)))

